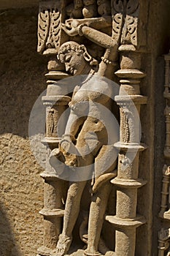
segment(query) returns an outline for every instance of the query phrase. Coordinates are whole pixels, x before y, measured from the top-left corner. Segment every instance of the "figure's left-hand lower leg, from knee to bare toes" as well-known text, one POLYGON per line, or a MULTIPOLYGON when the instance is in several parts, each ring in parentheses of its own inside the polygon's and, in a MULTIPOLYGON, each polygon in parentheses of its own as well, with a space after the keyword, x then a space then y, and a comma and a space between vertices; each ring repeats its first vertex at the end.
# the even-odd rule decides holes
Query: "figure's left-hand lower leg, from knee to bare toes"
POLYGON ((69 251, 72 243, 72 230, 80 211, 80 200, 85 184, 86 181, 79 181, 72 183, 69 187, 63 217, 63 232, 59 236, 55 256, 66 255, 66 252, 69 251))

